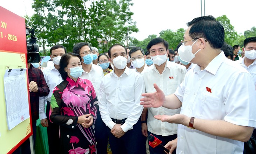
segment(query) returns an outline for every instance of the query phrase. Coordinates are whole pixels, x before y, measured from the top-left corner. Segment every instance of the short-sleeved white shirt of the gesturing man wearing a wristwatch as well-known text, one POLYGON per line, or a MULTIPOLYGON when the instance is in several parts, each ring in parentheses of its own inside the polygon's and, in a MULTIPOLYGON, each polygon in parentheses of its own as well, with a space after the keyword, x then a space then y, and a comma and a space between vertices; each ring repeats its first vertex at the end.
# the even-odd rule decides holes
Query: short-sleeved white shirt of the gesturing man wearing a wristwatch
MULTIPOLYGON (((204 70, 196 65, 188 71, 174 94, 183 102, 181 114, 188 117, 256 127, 253 79, 247 70, 226 58, 223 52, 204 70)), ((243 154, 243 144, 178 125, 177 153, 180 154, 243 154)))

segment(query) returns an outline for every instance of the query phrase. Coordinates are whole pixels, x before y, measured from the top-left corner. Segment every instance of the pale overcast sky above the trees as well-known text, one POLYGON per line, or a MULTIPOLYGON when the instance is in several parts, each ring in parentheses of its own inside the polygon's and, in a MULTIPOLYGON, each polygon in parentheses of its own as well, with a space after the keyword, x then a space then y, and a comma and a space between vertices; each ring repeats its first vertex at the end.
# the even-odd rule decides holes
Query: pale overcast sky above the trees
MULTIPOLYGON (((226 15, 238 34, 256 26, 256 0, 202 0, 205 15, 226 15)), ((132 0, 130 11, 134 13, 138 33, 129 36, 142 41, 149 35, 159 36, 160 31, 186 29, 186 23, 201 16, 201 0, 132 0)), ((19 16, 32 16, 33 0, 0 0, 0 6, 19 16)), ((203 13, 204 15, 204 13, 203 13)))

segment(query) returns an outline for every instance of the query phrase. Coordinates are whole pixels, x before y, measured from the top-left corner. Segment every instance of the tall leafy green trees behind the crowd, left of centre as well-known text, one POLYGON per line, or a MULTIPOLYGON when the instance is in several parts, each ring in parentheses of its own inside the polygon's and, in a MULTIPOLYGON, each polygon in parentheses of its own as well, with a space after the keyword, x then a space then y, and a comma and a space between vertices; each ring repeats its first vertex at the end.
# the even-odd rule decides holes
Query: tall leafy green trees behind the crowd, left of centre
POLYGON ((38 44, 51 47, 62 44, 72 51, 74 44, 87 42, 106 51, 126 35, 139 30, 129 6, 131 0, 34 0, 35 14, 26 16, 27 26, 35 28, 38 44))

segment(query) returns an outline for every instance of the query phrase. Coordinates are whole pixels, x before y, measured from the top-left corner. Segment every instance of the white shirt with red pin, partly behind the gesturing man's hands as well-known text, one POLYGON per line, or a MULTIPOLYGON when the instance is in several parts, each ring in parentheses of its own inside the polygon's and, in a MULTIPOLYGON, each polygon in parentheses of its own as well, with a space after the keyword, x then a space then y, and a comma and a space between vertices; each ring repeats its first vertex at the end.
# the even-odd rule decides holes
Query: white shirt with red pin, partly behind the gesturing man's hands
MULTIPOLYGON (((183 81, 186 72, 185 66, 167 61, 161 75, 156 69, 155 64, 153 64, 148 69, 143 70, 141 76, 143 77, 147 93, 156 91, 153 86, 156 83, 165 95, 169 95, 176 91, 177 87, 183 81)), ((148 131, 162 136, 177 134, 177 124, 161 122, 161 120, 155 119, 154 116, 158 114, 173 116, 178 113, 180 113, 180 108, 171 110, 165 107, 149 107, 147 119, 148 131)))

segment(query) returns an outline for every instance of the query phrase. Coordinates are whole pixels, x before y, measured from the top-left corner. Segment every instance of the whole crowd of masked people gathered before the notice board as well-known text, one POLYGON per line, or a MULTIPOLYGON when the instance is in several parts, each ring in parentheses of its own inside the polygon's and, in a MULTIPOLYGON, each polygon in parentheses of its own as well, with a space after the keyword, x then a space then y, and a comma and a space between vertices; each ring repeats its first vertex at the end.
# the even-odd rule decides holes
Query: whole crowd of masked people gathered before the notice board
POLYGON ((162 38, 146 52, 54 45, 53 64, 28 73, 38 78, 29 77, 32 119, 47 127, 49 153, 146 154, 153 135, 173 154, 242 154, 256 128, 256 37, 241 50, 213 16, 187 26, 175 50, 162 38))

